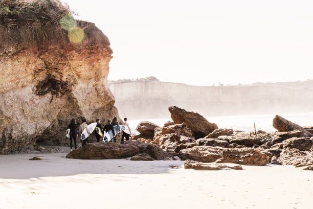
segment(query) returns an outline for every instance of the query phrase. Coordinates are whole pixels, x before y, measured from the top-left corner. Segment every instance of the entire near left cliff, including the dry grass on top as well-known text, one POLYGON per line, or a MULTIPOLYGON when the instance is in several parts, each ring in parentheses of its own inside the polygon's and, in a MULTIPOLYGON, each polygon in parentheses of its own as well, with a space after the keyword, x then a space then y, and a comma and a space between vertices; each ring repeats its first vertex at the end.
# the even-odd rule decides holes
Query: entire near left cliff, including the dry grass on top
POLYGON ((112 49, 101 30, 74 19, 71 28, 62 27, 71 16, 58 0, 5 2, 8 9, 0 13, 0 153, 36 142, 65 144, 71 118, 80 123, 84 117, 88 122, 118 117, 107 86, 112 49))

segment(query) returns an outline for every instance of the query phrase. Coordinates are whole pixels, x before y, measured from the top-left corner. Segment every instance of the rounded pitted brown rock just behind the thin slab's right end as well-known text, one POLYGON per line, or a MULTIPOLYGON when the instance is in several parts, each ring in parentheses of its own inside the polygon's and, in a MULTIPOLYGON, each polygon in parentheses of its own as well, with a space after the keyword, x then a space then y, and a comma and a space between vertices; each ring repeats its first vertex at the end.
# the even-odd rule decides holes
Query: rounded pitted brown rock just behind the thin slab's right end
POLYGON ((268 155, 253 148, 224 149, 222 158, 216 163, 236 163, 243 165, 266 165, 269 163, 268 155))

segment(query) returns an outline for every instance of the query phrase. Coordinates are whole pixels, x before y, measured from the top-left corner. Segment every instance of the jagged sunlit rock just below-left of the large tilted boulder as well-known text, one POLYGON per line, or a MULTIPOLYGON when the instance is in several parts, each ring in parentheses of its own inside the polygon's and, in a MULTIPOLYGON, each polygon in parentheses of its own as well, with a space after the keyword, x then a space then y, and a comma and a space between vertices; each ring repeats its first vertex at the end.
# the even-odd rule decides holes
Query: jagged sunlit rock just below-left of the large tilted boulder
MULTIPOLYGON (((169 136, 166 136, 168 134, 175 134, 176 136, 185 136, 190 139, 194 139, 192 136, 191 131, 187 128, 185 123, 182 124, 177 124, 177 125, 171 125, 168 127, 163 127, 163 128, 156 128, 155 129, 155 137, 154 141, 156 143, 160 144, 165 142, 169 136)), ((179 137, 180 138, 180 137, 179 137)))

